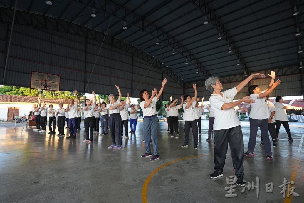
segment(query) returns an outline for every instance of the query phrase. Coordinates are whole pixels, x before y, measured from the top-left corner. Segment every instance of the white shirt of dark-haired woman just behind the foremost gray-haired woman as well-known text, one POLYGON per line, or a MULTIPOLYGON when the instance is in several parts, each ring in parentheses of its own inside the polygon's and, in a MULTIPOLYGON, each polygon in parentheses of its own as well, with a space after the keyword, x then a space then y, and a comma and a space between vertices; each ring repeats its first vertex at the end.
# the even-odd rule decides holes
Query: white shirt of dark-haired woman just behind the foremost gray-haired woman
POLYGON ((258 94, 250 94, 250 99, 254 100, 254 103, 251 103, 250 118, 257 120, 269 118, 270 114, 267 107, 267 100, 264 97, 259 98, 259 95, 264 92, 265 91, 258 94))

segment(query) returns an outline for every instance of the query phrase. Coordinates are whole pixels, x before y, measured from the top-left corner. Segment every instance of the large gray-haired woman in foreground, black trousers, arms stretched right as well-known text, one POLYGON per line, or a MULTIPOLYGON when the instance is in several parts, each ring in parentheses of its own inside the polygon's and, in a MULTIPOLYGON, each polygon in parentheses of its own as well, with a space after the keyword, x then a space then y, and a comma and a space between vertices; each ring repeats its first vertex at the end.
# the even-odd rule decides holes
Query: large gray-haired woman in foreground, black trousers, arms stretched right
POLYGON ((209 101, 214 110, 214 173, 211 178, 223 176, 223 167, 228 149, 228 143, 231 150, 233 167, 237 176, 237 185, 244 186, 244 141, 240 121, 234 113, 233 107, 242 102, 253 103, 254 100, 249 96, 233 102, 237 93, 247 85, 253 77, 262 77, 261 73, 254 73, 232 89, 221 92, 222 83, 218 77, 210 77, 206 80, 205 86, 212 93, 209 101))

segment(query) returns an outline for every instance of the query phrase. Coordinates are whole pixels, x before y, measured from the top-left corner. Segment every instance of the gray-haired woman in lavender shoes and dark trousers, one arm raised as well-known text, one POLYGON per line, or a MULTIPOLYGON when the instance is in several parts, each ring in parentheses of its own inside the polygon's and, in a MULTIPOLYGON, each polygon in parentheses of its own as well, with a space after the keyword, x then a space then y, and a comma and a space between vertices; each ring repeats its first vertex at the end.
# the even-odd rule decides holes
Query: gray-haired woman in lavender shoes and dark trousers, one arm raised
POLYGON ((115 96, 113 94, 110 94, 108 96, 110 103, 107 104, 107 109, 109 110, 109 116, 110 116, 109 117, 109 127, 110 127, 111 138, 112 138, 112 145, 109 146, 108 148, 109 149, 113 148, 114 150, 121 149, 121 135, 120 135, 121 116, 119 114, 119 107, 124 104, 123 101, 120 102, 121 92, 120 92, 119 86, 116 85, 116 88, 119 93, 118 100, 116 101, 115 96), (115 134, 116 134, 117 143, 115 140, 115 134))

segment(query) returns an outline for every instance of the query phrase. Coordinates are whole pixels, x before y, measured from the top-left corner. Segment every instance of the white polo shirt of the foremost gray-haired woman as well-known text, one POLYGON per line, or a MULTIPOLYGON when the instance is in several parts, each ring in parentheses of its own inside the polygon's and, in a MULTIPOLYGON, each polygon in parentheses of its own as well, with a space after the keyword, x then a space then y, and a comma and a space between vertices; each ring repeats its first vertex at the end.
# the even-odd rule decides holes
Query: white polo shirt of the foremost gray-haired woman
POLYGON ((233 107, 222 110, 224 103, 233 102, 234 96, 237 95, 237 88, 233 87, 222 94, 223 97, 220 94, 211 94, 209 98, 211 108, 214 110, 214 130, 229 129, 241 124, 233 107))

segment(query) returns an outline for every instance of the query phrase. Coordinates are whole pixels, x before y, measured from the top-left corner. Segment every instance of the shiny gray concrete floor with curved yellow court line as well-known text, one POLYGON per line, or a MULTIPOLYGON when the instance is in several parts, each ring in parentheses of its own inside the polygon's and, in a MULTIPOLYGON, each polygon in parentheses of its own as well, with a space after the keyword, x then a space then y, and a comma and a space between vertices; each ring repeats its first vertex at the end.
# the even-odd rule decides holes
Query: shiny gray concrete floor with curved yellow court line
MULTIPOLYGON (((242 121, 241 126, 246 151, 249 122, 242 121)), ((278 148, 272 148, 273 160, 265 159, 260 138, 255 157, 245 157, 244 180, 256 184, 256 177, 260 179, 258 199, 257 189, 242 193, 243 187, 239 186, 234 188, 237 197, 225 197, 226 178, 234 175, 230 149, 224 176, 209 178, 214 166, 214 142, 206 142, 208 121, 202 121, 198 149, 193 149, 193 137, 189 147, 181 147, 184 122, 179 122, 181 134, 177 139, 167 137, 167 122, 160 121, 161 159, 154 162, 140 157, 145 153, 141 121, 136 134, 129 133, 130 138, 123 139, 123 148, 116 151, 108 149, 110 135, 96 134, 94 142, 87 144, 82 142, 82 129, 76 140, 70 140, 33 128, 13 127, 0 124, 0 202, 303 202, 303 123, 290 123, 293 142, 288 142, 281 128, 278 148), (284 178, 295 180, 294 191, 299 197, 283 198, 279 186, 284 178), (265 184, 270 182, 273 192, 266 193, 265 184)))

